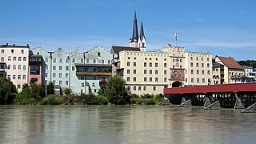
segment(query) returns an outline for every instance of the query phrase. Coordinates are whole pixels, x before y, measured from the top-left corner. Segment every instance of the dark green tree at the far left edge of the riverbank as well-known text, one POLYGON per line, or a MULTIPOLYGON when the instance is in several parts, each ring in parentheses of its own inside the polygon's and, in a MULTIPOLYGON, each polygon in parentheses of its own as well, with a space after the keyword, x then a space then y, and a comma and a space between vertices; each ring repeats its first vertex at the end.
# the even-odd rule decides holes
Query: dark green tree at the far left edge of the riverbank
POLYGON ((12 104, 16 94, 17 90, 13 82, 9 78, 0 77, 0 104, 12 104))

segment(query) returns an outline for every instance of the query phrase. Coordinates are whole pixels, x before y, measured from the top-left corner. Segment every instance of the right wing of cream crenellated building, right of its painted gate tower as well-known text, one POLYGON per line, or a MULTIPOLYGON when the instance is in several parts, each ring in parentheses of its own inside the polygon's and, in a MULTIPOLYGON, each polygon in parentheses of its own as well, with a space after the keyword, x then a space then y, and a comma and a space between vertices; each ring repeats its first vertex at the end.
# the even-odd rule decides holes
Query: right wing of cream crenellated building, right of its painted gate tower
POLYGON ((185 86, 212 84, 212 54, 185 53, 185 86))

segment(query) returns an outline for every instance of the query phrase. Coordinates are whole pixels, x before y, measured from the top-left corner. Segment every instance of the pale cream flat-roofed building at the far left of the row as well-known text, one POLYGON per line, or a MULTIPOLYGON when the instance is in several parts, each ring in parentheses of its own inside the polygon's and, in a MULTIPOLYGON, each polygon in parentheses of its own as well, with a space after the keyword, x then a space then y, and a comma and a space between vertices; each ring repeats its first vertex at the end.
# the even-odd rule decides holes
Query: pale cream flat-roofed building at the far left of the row
POLYGON ((29 53, 30 46, 2 45, 1 70, 10 78, 18 91, 22 90, 22 85, 28 83, 29 53))

